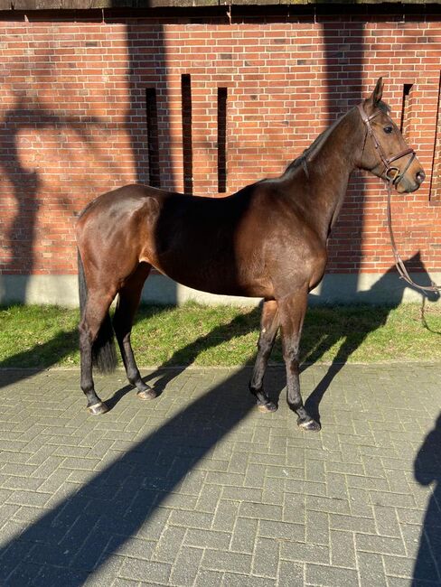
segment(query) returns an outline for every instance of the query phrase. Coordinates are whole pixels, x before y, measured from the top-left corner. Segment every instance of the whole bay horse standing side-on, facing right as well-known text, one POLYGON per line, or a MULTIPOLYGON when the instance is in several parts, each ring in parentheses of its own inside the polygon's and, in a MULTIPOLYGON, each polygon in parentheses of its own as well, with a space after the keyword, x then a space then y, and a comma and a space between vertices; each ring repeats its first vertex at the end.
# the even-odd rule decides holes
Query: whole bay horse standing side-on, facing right
POLYGON ((90 414, 108 411, 95 392, 92 363, 101 370, 116 367, 113 330, 137 395, 155 397, 155 389, 141 379, 130 344, 143 284, 155 267, 198 290, 263 298, 249 390, 261 411, 277 409, 263 378, 280 327, 287 403, 304 430, 320 429, 300 395, 299 342, 307 295, 324 275, 326 242, 350 175, 356 168, 367 170, 393 183, 399 193, 418 190, 425 179, 381 101, 382 90, 380 78, 369 98, 327 128, 275 179, 220 199, 133 184, 89 203, 80 214, 77 242, 80 385, 90 414), (116 295, 112 329, 108 310, 116 295))

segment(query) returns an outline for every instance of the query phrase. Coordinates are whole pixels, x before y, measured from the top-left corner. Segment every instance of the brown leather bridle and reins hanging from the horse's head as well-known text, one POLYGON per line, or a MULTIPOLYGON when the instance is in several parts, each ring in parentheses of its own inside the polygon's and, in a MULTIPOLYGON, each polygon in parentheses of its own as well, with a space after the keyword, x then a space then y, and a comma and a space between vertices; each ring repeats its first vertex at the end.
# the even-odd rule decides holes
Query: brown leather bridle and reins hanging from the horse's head
MULTIPOLYGON (((371 116, 368 116, 366 114, 366 112, 364 111, 362 104, 358 105, 358 109, 361 114, 361 119, 367 128, 366 136, 367 135, 371 136, 371 139, 373 141, 375 149, 377 150, 377 153, 380 156, 381 163, 383 163, 383 165, 384 165, 385 175, 388 178, 388 228, 389 228, 389 236, 390 236, 390 243, 392 246, 392 252, 393 252, 393 256, 395 258, 395 266, 397 267, 397 270, 399 272, 399 276, 401 277, 401 279, 404 279, 404 281, 406 281, 409 285, 412 285, 412 287, 416 287, 417 289, 422 290, 424 292, 440 292, 441 291, 440 285, 436 285, 433 282, 431 285, 418 285, 412 280, 410 275, 408 275, 408 269, 404 265, 404 261, 401 258, 401 256, 399 256, 399 251, 397 249, 397 245, 395 243, 395 237, 394 237, 393 230, 392 230, 392 213, 390 210, 390 197, 391 197, 392 185, 397 185, 397 183, 401 180, 403 175, 408 171, 408 168, 410 167, 410 163, 412 163, 412 161, 416 157, 415 151, 409 147, 408 149, 401 151, 399 154, 392 155, 391 157, 388 157, 384 153, 384 149, 380 145, 380 141, 378 140, 377 136, 373 132, 373 128, 371 125, 372 118, 375 118, 375 116, 378 116, 380 114, 380 111, 377 110, 377 112, 374 112, 373 114, 371 114, 371 116), (397 161, 398 159, 401 159, 401 157, 405 157, 406 155, 411 155, 411 156, 409 157, 408 163, 406 164, 406 167, 404 168, 404 170, 402 172, 399 171, 398 167, 394 167, 393 165, 390 164, 390 163, 393 163, 394 161, 397 161)), ((365 137, 364 141, 366 142, 366 137, 365 137)), ((422 318, 424 321, 425 320, 424 319, 424 305, 423 305, 423 309, 422 309, 422 318)))

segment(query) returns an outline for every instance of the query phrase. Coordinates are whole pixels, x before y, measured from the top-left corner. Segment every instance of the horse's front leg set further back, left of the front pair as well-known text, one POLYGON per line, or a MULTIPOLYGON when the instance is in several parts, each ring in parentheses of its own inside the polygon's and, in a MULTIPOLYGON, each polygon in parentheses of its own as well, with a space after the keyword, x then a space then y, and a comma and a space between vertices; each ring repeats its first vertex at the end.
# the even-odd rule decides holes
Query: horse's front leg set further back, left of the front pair
POLYGON ((269 400, 263 389, 263 377, 276 340, 279 324, 277 302, 275 300, 264 302, 258 336, 258 356, 249 382, 249 391, 258 398, 258 409, 261 412, 275 412, 277 410, 277 405, 269 400))

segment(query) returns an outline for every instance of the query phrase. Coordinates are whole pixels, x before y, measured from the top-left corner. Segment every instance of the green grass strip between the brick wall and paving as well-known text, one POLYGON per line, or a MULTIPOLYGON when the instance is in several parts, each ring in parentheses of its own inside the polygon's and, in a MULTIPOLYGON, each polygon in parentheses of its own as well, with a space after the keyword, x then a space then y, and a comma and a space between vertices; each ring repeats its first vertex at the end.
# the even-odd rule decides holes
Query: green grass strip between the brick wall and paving
MULTIPOLYGON (((441 360, 441 308, 419 304, 312 307, 305 319, 302 360, 381 362, 441 360)), ((142 306, 132 341, 139 366, 233 366, 252 363, 258 308, 142 306)), ((48 368, 80 364, 78 310, 54 306, 0 308, 0 367, 48 368)), ((280 340, 271 356, 281 362, 280 340)))

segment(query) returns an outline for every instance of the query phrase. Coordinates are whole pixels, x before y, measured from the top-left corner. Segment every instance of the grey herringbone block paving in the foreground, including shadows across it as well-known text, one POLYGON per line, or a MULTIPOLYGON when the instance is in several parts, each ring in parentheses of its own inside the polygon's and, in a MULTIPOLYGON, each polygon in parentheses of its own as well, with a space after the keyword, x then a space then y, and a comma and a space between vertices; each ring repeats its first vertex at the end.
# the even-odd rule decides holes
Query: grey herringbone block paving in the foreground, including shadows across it
POLYGON ((267 415, 249 368, 147 373, 151 402, 118 371, 102 416, 76 370, 0 371, 0 584, 441 585, 441 365, 327 370, 321 433, 279 367, 267 415))

